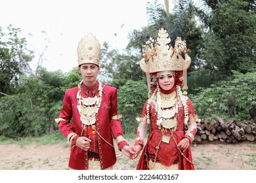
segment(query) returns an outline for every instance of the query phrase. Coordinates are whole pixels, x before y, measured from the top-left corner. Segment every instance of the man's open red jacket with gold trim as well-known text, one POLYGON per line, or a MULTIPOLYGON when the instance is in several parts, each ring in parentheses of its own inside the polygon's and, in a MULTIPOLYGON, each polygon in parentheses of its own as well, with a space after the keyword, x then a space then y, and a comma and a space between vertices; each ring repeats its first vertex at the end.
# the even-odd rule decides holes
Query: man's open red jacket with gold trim
MULTIPOLYGON (((96 114, 96 131, 113 145, 113 137, 123 136, 121 122, 112 120, 113 116, 117 115, 117 89, 112 86, 102 84, 102 101, 98 114, 96 114)), ((60 110, 59 117, 64 120, 58 122, 60 131, 64 137, 68 137, 70 133, 81 135, 82 122, 80 114, 77 110, 77 90, 78 87, 66 90, 63 107, 60 110), (70 123, 72 122, 72 123, 70 123)), ((86 128, 83 130, 83 135, 86 134, 86 128)), ((110 146, 102 138, 98 136, 98 150, 100 155, 100 167, 106 169, 116 163, 116 153, 113 146, 110 146)), ((87 151, 81 150, 77 146, 71 149, 70 161, 68 165, 71 169, 88 169, 88 154, 87 151)))

